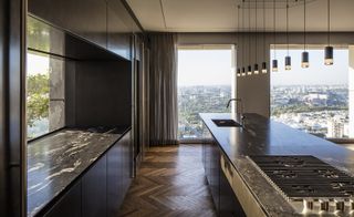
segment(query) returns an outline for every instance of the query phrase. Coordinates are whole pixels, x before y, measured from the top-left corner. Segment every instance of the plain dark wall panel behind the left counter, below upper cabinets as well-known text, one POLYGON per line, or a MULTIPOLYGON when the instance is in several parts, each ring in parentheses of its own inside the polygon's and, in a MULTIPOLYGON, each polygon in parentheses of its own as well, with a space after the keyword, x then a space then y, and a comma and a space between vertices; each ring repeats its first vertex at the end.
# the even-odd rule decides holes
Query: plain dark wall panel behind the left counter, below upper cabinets
POLYGON ((75 73, 67 75, 66 116, 71 125, 131 125, 129 61, 76 61, 75 73))

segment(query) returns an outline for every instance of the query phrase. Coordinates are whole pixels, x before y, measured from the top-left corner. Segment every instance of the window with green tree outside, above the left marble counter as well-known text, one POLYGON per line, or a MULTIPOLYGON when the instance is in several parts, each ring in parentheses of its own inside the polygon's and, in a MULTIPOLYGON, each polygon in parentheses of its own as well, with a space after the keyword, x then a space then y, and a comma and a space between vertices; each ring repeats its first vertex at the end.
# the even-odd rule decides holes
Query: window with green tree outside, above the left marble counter
POLYGON ((64 126, 64 61, 29 52, 27 73, 28 138, 64 126))

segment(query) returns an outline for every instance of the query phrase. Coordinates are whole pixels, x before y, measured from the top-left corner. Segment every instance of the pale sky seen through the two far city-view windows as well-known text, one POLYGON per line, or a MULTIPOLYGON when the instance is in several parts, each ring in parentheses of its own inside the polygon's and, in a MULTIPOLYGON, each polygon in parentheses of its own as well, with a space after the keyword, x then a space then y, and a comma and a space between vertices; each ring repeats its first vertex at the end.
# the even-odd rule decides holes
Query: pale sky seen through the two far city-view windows
MULTIPOLYGON (((277 50, 279 72, 272 73, 271 85, 347 84, 347 50, 335 50, 331 66, 323 63, 323 50, 310 50, 309 69, 301 68, 301 53, 290 50, 292 70, 284 71, 287 50, 277 50)), ((231 79, 231 50, 178 51, 178 85, 230 85, 231 79)))

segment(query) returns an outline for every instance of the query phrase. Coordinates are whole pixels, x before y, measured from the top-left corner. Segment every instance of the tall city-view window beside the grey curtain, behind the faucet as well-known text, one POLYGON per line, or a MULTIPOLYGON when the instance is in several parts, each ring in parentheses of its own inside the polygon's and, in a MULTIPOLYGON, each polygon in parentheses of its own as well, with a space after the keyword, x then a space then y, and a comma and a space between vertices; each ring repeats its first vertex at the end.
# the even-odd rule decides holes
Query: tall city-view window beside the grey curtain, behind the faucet
POLYGON ((178 137, 204 136, 199 113, 229 112, 231 46, 178 50, 178 137))

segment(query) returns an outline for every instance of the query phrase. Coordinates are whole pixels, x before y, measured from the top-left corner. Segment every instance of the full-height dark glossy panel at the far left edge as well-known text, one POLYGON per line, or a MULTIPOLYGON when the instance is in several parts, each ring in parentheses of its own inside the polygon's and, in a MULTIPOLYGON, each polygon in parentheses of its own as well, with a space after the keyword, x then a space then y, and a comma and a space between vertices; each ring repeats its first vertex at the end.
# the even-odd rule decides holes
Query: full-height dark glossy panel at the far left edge
POLYGON ((0 216, 25 214, 25 0, 0 0, 0 216))

